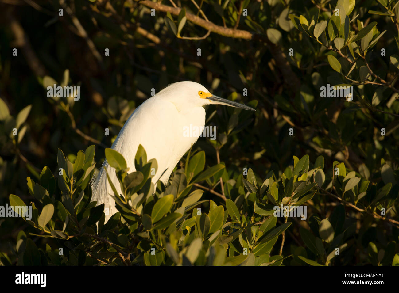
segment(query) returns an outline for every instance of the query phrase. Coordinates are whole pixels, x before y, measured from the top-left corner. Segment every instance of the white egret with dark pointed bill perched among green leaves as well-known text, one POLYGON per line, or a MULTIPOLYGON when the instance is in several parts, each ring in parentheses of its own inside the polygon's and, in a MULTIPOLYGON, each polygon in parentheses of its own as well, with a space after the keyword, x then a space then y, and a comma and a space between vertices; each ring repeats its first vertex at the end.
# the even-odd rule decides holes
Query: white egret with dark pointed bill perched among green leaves
MULTIPOLYGON (((199 83, 192 81, 173 83, 134 110, 111 148, 123 155, 130 172, 136 170, 134 157, 141 144, 147 153, 147 158, 155 158, 158 163, 158 170, 152 178, 153 183, 156 184, 159 179, 166 184, 176 164, 199 137, 199 134, 187 137, 183 134, 184 128, 192 124, 193 127, 203 129, 205 125, 203 106, 208 104, 222 104, 255 111, 244 104, 215 96, 199 83)), ((115 169, 107 163, 107 160, 103 163, 103 167, 107 168, 111 181, 120 193, 115 169)), ((105 218, 107 222, 118 210, 114 199, 109 196, 113 195, 113 191, 103 167, 92 183, 92 201, 97 201, 97 205, 104 203, 105 208, 109 208, 109 215, 105 218)))

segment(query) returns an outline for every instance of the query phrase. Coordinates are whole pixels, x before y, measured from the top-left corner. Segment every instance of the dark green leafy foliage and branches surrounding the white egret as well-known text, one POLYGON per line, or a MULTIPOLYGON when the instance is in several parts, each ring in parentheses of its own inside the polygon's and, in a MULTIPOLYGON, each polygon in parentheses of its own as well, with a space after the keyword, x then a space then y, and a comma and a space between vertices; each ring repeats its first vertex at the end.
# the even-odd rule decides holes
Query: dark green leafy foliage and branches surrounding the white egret
POLYGON ((0 217, 0 263, 399 265, 398 1, 196 1, 209 35, 191 1, 155 16, 148 2, 0 12, 14 21, 0 38, 0 206, 32 206, 0 217), (205 107, 216 140, 154 186, 144 148, 131 172, 107 146, 152 89, 181 80, 257 111, 205 107), (53 84, 80 99, 46 96, 53 84), (325 97, 327 84, 354 92, 325 97), (89 184, 105 158, 122 189, 107 222, 89 184), (306 220, 274 216, 281 204, 306 220))

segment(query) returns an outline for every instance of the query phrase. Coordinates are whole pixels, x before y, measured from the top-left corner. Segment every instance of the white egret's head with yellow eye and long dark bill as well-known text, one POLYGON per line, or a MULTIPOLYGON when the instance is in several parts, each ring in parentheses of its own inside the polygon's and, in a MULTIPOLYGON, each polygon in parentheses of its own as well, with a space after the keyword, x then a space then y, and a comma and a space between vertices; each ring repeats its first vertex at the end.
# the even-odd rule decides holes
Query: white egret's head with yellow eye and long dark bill
POLYGON ((179 111, 190 106, 198 107, 209 104, 221 104, 244 110, 255 111, 254 108, 244 104, 215 96, 214 94, 211 94, 203 85, 193 81, 180 81, 178 83, 172 83, 168 87, 161 90, 158 95, 162 95, 162 97, 173 102, 179 111))

